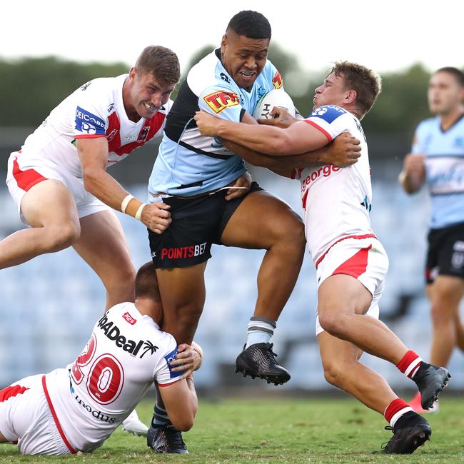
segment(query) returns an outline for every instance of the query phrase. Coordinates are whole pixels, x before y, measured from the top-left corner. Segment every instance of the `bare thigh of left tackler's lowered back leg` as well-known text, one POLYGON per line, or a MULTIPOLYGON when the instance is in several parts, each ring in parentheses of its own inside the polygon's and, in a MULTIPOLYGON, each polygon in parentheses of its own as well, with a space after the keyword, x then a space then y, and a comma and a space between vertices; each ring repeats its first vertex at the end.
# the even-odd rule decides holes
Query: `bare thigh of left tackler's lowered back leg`
POLYGON ((99 275, 105 286, 131 286, 135 269, 121 223, 113 211, 89 214, 80 220, 81 237, 74 249, 99 275))

